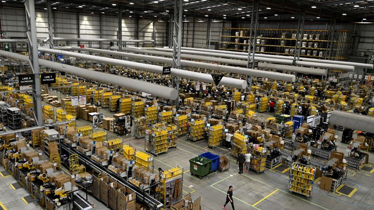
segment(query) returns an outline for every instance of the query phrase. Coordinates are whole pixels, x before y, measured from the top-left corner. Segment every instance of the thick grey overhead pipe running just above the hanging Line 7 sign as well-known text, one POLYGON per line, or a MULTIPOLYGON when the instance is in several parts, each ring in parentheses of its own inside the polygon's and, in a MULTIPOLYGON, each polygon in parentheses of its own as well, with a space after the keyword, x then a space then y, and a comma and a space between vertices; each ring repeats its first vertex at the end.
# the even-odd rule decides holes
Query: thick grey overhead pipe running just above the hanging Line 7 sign
MULTIPOLYGON (((55 53, 58 54, 58 53, 55 53)), ((29 58, 25 55, 17 54, 17 53, 10 53, 7 51, 0 51, 0 55, 5 57, 11 57, 14 59, 22 60, 22 61, 28 61, 29 58)), ((64 71, 69 74, 74 74, 80 77, 84 77, 87 79, 92 79, 104 83, 111 83, 114 85, 118 85, 121 87, 126 87, 130 89, 134 89, 137 91, 147 92, 154 96, 158 96, 161 98, 169 99, 169 100, 175 100, 178 97, 178 91, 174 88, 168 88, 161 85, 156 85, 148 82, 143 82, 127 77, 122 77, 118 75, 93 71, 93 70, 87 70, 75 66, 70 66, 66 64, 56 63, 44 59, 39 59, 39 65, 44 66, 50 69, 64 71)))

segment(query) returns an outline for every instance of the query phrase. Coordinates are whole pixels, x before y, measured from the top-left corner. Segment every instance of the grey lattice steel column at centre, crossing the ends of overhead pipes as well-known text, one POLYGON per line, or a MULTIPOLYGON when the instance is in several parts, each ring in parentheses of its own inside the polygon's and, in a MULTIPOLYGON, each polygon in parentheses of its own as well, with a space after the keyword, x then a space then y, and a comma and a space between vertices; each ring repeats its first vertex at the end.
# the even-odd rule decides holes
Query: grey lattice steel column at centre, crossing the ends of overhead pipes
MULTIPOLYGON (((181 41, 182 41, 182 16, 183 0, 174 0, 174 30, 173 30, 173 68, 181 69, 181 41)), ((179 93, 179 77, 175 78, 175 88, 179 93)), ((175 100, 176 109, 179 109, 179 95, 175 100)))

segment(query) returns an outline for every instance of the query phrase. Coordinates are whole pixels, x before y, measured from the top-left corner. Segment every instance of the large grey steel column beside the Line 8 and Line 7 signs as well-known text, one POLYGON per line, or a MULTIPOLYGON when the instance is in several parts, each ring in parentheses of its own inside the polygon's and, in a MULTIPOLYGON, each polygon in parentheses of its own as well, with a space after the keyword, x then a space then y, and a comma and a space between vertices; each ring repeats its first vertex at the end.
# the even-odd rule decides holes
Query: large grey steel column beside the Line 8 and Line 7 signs
POLYGON ((39 62, 37 56, 37 27, 35 17, 35 2, 34 0, 25 0, 26 8, 26 25, 27 25, 27 39, 29 45, 29 62, 32 73, 35 74, 35 84, 33 90, 34 100, 34 116, 37 125, 43 124, 42 108, 41 108, 41 94, 40 94, 40 78, 39 78, 39 62))

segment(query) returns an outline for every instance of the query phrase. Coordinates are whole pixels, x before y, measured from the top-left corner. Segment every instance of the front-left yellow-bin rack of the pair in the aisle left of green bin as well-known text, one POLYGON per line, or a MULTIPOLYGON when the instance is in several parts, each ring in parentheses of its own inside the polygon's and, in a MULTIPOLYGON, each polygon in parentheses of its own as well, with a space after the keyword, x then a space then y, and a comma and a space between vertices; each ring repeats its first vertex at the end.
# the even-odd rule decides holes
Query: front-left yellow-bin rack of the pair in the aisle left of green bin
POLYGON ((153 155, 168 152, 168 130, 166 127, 147 129, 145 132, 146 151, 153 155))

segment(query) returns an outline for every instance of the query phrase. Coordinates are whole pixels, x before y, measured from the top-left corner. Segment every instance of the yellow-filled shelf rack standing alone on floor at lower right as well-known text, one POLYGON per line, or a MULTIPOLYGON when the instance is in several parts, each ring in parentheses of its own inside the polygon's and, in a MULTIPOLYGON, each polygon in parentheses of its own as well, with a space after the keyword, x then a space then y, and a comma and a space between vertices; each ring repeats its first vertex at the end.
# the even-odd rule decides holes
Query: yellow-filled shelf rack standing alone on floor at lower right
POLYGON ((291 166, 288 191, 310 197, 312 195, 315 175, 315 167, 294 162, 291 166))

